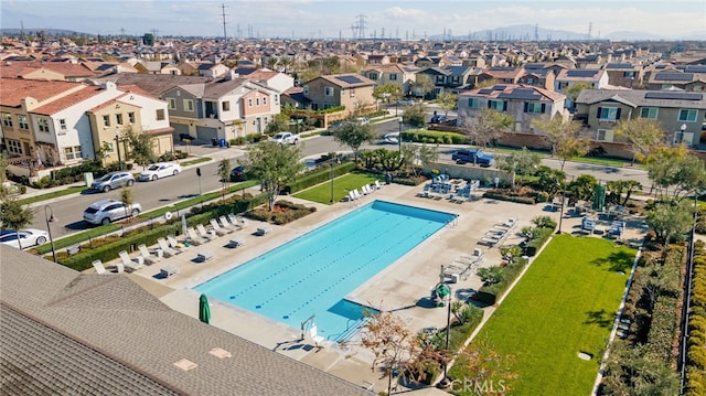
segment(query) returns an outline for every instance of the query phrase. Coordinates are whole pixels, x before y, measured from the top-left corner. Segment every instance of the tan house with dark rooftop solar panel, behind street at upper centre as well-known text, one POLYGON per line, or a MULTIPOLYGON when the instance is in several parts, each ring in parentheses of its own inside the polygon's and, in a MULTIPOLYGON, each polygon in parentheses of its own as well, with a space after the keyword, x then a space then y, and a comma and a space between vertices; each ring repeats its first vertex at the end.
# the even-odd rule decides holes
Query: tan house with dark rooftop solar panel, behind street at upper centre
MULTIPOLYGON (((359 74, 323 75, 306 82, 303 95, 310 100, 307 109, 322 110, 345 106, 347 114, 375 108, 375 82, 359 74)), ((303 108, 303 107, 302 107, 303 108)))

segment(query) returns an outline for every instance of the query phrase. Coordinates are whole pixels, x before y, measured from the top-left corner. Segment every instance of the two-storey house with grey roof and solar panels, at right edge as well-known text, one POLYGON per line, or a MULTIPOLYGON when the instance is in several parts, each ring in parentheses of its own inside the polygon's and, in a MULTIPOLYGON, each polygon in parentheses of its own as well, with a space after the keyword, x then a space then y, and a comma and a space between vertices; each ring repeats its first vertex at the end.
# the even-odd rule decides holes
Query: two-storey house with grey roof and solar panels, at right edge
POLYGON ((584 89, 576 99, 575 119, 598 141, 616 141, 616 125, 646 118, 659 121, 672 143, 696 147, 706 124, 704 93, 674 90, 584 89))

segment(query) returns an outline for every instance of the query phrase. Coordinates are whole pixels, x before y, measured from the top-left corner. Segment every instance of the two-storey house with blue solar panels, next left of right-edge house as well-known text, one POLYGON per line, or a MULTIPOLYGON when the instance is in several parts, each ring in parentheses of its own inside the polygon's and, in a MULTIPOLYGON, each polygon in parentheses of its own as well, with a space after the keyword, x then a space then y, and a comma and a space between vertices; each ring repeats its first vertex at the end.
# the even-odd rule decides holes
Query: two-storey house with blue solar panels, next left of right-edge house
POLYGON ((513 131, 532 132, 532 121, 543 117, 566 117, 566 96, 548 89, 520 84, 495 84, 459 94, 458 126, 474 122, 485 108, 514 118, 513 131))

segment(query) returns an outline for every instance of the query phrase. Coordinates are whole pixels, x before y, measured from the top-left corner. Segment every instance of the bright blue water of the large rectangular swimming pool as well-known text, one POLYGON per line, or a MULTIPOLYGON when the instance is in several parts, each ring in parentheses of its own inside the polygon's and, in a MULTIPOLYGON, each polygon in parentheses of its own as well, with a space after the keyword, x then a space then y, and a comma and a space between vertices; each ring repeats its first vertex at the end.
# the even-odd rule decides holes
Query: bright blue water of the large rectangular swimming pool
POLYGON ((454 217, 374 201, 194 289, 295 329, 315 314, 319 335, 343 340, 366 310, 343 298, 454 217))

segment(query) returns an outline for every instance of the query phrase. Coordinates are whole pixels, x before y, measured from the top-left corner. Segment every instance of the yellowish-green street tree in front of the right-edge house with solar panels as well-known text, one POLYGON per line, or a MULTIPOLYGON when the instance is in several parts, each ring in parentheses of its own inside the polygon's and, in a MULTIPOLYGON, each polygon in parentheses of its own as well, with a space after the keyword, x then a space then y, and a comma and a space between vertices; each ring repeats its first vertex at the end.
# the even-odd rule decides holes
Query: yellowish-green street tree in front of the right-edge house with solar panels
POLYGON ((662 125, 649 118, 621 120, 616 126, 616 136, 625 139, 632 151, 632 162, 644 161, 656 148, 664 145, 666 132, 662 125))

